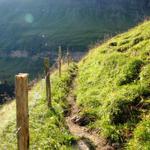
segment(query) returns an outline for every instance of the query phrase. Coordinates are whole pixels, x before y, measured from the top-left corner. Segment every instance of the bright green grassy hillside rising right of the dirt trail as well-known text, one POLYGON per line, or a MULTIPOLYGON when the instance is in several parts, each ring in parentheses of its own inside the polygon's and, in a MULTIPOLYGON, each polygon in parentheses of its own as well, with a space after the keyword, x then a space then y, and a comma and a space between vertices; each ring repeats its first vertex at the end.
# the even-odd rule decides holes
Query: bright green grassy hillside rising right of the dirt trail
POLYGON ((93 48, 79 63, 76 94, 89 128, 150 149, 150 21, 93 48))

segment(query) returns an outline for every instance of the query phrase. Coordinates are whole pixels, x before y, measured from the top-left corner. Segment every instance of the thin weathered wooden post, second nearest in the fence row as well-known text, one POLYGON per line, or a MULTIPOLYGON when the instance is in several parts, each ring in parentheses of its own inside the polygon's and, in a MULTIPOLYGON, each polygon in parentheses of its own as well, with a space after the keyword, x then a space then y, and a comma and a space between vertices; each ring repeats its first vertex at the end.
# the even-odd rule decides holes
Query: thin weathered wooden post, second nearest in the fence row
POLYGON ((51 107, 51 82, 49 70, 49 58, 44 59, 45 81, 46 81, 46 100, 48 107, 51 107))

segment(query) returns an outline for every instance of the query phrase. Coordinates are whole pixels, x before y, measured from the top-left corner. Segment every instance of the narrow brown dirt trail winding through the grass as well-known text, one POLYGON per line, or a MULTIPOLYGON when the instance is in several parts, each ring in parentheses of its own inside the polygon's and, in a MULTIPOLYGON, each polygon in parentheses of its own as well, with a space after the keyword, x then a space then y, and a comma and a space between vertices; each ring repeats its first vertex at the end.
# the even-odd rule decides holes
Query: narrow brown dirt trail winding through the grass
POLYGON ((112 147, 107 145, 106 140, 101 138, 95 131, 89 131, 85 126, 79 126, 74 123, 73 119, 78 116, 79 109, 77 107, 74 95, 75 82, 73 82, 70 93, 68 95, 68 102, 70 105, 69 115, 66 117, 66 123, 70 132, 79 137, 77 142, 79 150, 113 150, 112 147))

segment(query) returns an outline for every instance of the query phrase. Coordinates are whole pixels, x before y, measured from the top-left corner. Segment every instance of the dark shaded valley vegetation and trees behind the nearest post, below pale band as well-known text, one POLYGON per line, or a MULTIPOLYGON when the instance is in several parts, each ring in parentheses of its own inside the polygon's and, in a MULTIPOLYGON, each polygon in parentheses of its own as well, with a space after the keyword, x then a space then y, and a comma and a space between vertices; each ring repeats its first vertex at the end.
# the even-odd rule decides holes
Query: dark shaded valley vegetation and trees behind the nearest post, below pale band
POLYGON ((14 76, 19 72, 28 72, 30 80, 38 78, 43 73, 43 60, 31 58, 1 58, 0 57, 0 103, 14 96, 14 76), (4 84, 7 82, 7 84, 4 84))

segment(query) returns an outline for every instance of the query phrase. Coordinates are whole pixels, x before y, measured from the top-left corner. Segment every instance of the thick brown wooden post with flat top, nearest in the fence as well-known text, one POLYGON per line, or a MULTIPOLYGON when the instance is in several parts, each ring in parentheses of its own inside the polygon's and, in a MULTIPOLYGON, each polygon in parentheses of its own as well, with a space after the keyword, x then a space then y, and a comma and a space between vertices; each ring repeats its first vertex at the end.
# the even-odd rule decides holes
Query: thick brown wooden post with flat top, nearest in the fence
POLYGON ((15 77, 18 150, 29 150, 28 74, 15 77))

